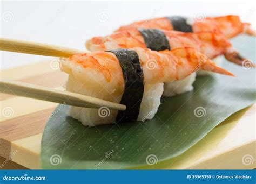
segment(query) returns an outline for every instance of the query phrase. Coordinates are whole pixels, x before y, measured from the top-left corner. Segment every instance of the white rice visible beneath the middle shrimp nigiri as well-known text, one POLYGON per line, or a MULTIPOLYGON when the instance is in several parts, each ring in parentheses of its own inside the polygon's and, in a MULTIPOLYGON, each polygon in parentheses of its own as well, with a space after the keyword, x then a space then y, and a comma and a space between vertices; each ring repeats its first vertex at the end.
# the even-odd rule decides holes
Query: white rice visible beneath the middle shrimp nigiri
POLYGON ((191 75, 187 76, 185 79, 165 83, 163 96, 169 97, 169 96, 185 93, 187 91, 192 91, 194 89, 192 84, 195 80, 196 80, 196 73, 192 73, 191 75))

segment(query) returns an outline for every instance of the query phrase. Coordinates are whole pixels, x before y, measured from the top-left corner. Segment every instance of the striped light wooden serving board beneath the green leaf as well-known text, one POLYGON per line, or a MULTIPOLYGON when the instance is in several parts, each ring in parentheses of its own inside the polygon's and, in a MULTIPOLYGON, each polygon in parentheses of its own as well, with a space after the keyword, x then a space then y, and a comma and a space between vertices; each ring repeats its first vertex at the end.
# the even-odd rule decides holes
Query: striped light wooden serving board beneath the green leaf
MULTIPOLYGON (((52 69, 50 61, 4 70, 0 75, 1 79, 57 89, 62 89, 68 77, 59 70, 52 69)), ((16 162, 26 168, 40 169, 39 154, 43 130, 57 104, 6 94, 0 94, 0 100, 0 156, 3 157, 0 159, 0 168, 16 162)), ((254 104, 232 115, 198 144, 175 158, 172 165, 166 161, 161 164, 161 168, 255 168, 255 107, 254 104)))

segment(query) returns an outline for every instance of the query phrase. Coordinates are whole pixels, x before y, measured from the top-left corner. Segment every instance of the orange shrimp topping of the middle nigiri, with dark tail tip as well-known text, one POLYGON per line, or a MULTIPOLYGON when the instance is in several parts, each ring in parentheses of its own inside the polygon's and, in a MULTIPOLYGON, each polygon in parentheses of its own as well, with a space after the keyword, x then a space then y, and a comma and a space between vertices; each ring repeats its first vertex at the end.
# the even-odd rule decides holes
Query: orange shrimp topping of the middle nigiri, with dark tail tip
MULTIPOLYGON (((119 48, 150 48, 158 49, 158 44, 161 44, 161 37, 158 37, 159 31, 154 29, 146 29, 150 31, 151 38, 150 44, 154 47, 148 47, 146 40, 142 35, 142 29, 129 29, 124 31, 115 32, 105 37, 94 37, 86 41, 86 47, 89 51, 110 51, 119 48)), ((242 65, 245 60, 238 52, 234 51, 232 44, 228 39, 218 31, 202 31, 198 33, 184 33, 179 31, 161 31, 167 39, 170 49, 181 47, 193 47, 197 51, 205 54, 208 58, 213 59, 216 56, 225 55, 228 61, 242 65)), ((166 48, 164 48, 166 49, 166 48)))

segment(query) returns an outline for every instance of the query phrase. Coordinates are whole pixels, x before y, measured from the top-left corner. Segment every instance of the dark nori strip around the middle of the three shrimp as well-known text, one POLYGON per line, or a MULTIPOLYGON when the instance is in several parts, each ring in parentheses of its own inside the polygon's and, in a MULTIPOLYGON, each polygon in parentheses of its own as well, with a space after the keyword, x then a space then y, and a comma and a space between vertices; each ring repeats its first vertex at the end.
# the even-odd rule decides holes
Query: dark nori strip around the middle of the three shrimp
POLYGON ((171 50, 169 41, 163 31, 158 29, 138 29, 142 34, 147 48, 153 51, 171 50))

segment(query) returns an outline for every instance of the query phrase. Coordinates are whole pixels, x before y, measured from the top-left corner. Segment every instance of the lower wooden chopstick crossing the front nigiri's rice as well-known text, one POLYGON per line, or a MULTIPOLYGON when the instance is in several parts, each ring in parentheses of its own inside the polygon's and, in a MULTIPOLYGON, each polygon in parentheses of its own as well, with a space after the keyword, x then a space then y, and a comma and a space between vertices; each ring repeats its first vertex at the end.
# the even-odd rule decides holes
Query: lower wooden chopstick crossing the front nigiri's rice
POLYGON ((17 81, 1 80, 0 92, 11 95, 36 98, 44 101, 68 104, 76 107, 107 107, 109 109, 116 110, 126 109, 125 105, 101 100, 95 97, 71 93, 69 91, 60 91, 51 88, 45 88, 17 81))

